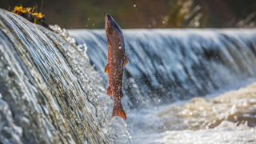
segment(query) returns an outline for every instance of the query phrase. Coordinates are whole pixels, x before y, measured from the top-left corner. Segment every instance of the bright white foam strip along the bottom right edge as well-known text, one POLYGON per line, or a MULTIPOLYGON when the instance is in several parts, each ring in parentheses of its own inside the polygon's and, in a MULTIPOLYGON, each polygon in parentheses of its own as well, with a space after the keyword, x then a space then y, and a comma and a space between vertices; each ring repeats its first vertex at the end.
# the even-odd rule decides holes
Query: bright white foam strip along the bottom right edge
POLYGON ((208 130, 172 130, 148 143, 255 143, 256 129, 222 122, 222 126, 208 130), (223 127, 222 127, 223 126, 223 127))

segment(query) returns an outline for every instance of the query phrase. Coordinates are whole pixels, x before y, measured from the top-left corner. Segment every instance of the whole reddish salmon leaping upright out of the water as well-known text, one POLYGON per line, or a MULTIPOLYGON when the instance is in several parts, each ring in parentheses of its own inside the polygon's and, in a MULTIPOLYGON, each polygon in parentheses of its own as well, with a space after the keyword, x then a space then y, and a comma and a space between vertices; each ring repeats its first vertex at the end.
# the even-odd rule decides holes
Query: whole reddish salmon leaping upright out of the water
POLYGON ((125 55, 125 42, 122 30, 110 14, 106 14, 105 22, 106 38, 108 45, 107 64, 104 72, 109 74, 109 87, 107 94, 114 97, 113 114, 126 119, 126 113, 122 108, 122 75, 124 66, 128 63, 125 55))

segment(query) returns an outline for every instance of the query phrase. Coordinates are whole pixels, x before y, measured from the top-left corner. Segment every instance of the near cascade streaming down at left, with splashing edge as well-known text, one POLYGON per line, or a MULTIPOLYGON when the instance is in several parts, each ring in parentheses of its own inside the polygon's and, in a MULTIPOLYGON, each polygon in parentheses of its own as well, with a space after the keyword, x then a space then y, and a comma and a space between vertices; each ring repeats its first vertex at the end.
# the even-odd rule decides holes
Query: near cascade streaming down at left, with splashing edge
POLYGON ((6 10, 0 10, 0 70, 2 142, 129 142, 125 123, 110 119, 111 99, 89 58, 6 10))

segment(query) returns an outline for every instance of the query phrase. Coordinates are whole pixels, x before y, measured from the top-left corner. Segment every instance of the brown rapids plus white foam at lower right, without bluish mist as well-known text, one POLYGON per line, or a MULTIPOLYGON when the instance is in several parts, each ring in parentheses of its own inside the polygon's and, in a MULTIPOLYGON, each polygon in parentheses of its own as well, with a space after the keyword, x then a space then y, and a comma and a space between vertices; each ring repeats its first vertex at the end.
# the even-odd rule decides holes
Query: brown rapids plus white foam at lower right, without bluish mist
POLYGON ((158 117, 166 130, 154 142, 256 143, 256 83, 216 98, 173 104, 158 117))

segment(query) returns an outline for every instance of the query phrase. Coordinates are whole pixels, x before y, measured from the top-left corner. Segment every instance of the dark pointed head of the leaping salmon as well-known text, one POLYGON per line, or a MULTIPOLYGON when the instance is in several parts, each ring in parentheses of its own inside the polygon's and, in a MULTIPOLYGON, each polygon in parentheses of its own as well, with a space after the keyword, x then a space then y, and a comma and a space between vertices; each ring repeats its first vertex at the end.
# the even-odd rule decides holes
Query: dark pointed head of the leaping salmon
POLYGON ((106 38, 108 42, 113 43, 118 39, 119 45, 124 50, 124 38, 122 34, 121 28, 118 26, 114 19, 110 16, 110 14, 106 14, 106 22, 105 22, 105 30, 106 30, 106 38))

